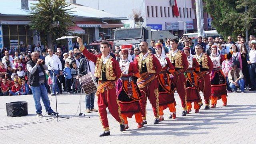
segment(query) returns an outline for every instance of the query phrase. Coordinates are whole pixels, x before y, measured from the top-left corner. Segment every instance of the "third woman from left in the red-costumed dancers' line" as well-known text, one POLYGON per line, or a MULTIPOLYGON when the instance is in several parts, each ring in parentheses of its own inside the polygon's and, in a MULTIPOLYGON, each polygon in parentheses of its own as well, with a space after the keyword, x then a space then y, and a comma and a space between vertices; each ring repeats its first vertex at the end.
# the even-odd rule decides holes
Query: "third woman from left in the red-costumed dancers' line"
POLYGON ((192 54, 190 54, 190 47, 185 46, 183 48, 184 53, 188 59, 188 69, 184 73, 186 76, 186 91, 187 91, 187 114, 191 112, 192 102, 194 102, 195 113, 199 112, 199 102, 200 102, 200 94, 198 88, 198 77, 196 72, 200 71, 199 64, 195 58, 193 58, 192 54))

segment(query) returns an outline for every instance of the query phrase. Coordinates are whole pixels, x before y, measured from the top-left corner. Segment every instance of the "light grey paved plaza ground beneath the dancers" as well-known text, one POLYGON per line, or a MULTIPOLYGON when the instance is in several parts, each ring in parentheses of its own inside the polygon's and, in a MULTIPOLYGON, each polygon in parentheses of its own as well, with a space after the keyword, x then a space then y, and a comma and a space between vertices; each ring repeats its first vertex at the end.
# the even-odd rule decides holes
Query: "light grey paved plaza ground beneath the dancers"
MULTIPOLYGON (((222 101, 218 100, 216 108, 210 110, 201 108, 198 114, 192 110, 191 114, 181 117, 180 99, 175 93, 177 102, 175 120, 168 119, 170 113, 166 109, 164 121, 153 125, 153 111, 148 102, 148 124, 137 129, 133 117, 128 119, 129 129, 120 132, 119 123, 108 114, 111 135, 106 137, 98 136, 102 132, 102 126, 97 112, 86 114, 90 118, 78 116, 79 94, 57 96, 60 116, 71 117, 70 119, 59 118, 58 122, 56 119, 46 120, 51 117, 47 114, 44 118, 36 117, 32 95, 1 96, 0 141, 1 144, 255 144, 255 96, 255 93, 248 91, 244 94, 230 93, 228 106, 222 106, 222 101), (14 101, 28 102, 28 116, 6 116, 5 103, 14 101), (40 121, 37 123, 30 123, 38 120, 40 121)), ((83 94, 82 112, 85 112, 84 97, 83 94)), ((50 96, 51 98, 51 106, 56 110, 55 97, 50 96)))

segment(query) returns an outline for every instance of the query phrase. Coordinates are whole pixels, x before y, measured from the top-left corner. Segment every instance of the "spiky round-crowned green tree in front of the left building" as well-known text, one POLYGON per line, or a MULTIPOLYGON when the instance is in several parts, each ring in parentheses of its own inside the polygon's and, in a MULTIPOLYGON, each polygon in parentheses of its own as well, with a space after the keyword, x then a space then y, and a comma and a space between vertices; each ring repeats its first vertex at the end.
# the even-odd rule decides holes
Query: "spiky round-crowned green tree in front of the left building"
POLYGON ((72 8, 68 8, 70 4, 65 0, 38 0, 31 9, 30 29, 44 32, 47 39, 48 48, 52 48, 56 38, 68 35, 69 27, 74 23, 71 21, 73 13, 72 8), (56 23, 59 22, 59 26, 56 23))

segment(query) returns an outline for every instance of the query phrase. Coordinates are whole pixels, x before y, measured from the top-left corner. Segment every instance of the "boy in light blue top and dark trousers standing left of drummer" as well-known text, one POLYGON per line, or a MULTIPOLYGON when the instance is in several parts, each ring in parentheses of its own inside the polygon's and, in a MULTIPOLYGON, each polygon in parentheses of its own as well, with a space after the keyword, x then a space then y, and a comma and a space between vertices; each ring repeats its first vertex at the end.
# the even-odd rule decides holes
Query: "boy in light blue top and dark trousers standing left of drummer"
POLYGON ((65 62, 66 67, 62 70, 65 78, 65 84, 68 94, 71 94, 71 68, 69 66, 69 62, 65 62))

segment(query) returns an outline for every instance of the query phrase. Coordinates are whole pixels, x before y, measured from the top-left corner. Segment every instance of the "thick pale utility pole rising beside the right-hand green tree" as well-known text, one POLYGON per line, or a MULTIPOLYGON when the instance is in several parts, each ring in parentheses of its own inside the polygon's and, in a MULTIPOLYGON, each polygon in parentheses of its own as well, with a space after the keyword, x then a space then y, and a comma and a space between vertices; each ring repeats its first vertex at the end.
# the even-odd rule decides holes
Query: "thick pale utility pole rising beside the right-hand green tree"
POLYGON ((198 36, 204 36, 204 16, 202 0, 196 0, 196 22, 198 36))

